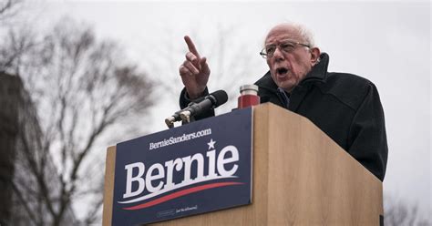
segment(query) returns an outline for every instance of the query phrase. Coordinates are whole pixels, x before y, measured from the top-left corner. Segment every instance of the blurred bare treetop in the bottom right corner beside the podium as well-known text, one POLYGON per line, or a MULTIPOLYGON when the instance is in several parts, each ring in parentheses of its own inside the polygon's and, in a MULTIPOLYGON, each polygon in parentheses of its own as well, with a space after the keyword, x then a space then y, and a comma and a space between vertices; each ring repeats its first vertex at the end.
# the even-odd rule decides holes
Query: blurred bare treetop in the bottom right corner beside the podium
POLYGON ((417 205, 411 205, 406 200, 396 199, 392 196, 385 196, 384 202, 384 225, 432 225, 432 221, 427 220, 424 215, 418 211, 417 205))

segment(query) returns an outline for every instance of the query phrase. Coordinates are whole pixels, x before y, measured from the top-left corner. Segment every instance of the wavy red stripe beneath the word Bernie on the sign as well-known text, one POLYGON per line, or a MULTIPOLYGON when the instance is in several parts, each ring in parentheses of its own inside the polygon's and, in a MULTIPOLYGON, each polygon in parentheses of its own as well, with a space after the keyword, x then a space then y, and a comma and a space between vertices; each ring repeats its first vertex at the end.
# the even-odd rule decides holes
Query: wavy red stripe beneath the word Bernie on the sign
POLYGON ((210 190, 210 189, 214 189, 214 188, 218 188, 218 187, 225 187, 225 186, 239 185, 239 184, 243 184, 243 183, 240 183, 240 182, 221 182, 221 183, 212 183, 212 184, 201 185, 201 186, 193 187, 193 188, 190 188, 187 190, 179 190, 179 191, 174 192, 172 194, 162 196, 159 199, 151 200, 149 202, 142 203, 142 204, 139 204, 136 206, 125 207, 125 208, 123 208, 123 210, 135 211, 135 210, 139 210, 139 209, 144 209, 144 208, 148 208, 150 206, 158 205, 159 203, 165 202, 167 200, 173 200, 173 199, 179 198, 181 196, 185 196, 185 195, 188 195, 190 193, 195 193, 195 192, 198 192, 201 190, 210 190))

